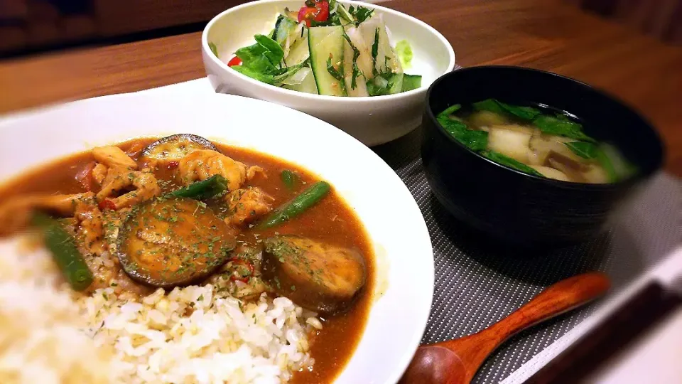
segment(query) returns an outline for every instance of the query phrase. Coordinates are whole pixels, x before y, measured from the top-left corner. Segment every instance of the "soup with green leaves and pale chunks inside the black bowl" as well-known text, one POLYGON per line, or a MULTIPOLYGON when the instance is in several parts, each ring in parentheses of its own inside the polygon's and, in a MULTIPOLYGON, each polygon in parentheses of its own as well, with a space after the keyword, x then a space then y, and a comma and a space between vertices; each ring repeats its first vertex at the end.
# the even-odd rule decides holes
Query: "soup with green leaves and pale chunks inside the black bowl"
POLYGON ((467 148, 525 174, 612 183, 635 172, 614 146, 598 143, 583 132, 583 124, 547 108, 487 99, 453 105, 437 119, 467 148))

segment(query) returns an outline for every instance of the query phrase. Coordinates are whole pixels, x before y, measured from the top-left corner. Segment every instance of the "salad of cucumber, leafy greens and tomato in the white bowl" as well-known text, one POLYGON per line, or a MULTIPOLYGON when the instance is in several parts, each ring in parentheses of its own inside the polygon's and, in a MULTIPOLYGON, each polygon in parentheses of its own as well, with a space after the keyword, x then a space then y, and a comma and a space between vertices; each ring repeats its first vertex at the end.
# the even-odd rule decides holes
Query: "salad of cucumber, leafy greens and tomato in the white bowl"
MULTIPOLYGON (((254 36, 253 45, 224 61, 255 80, 319 95, 394 95, 421 87, 421 75, 404 73, 410 44, 391 46, 381 14, 337 0, 302 5, 298 12, 285 9, 268 36, 254 36)), ((210 48, 217 56, 215 44, 210 48)))

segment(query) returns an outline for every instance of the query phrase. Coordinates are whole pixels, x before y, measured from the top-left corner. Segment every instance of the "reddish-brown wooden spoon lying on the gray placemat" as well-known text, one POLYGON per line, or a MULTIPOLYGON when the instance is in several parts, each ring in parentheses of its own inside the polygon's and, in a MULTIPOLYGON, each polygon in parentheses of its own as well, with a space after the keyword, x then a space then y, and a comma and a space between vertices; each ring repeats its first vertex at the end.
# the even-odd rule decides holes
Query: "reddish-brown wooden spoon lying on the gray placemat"
POLYGON ((609 278, 598 272, 561 280, 477 334, 420 346, 399 383, 470 383, 490 353, 508 338, 600 297, 609 287, 609 278))

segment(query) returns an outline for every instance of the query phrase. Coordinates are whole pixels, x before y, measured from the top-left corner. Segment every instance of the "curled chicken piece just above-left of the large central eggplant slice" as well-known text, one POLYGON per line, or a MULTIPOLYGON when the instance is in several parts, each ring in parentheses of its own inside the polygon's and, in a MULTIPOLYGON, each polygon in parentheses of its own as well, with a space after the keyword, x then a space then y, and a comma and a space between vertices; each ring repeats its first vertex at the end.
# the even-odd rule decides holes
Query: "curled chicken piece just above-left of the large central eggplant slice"
POLYGON ((119 210, 142 203, 161 194, 156 176, 148 169, 131 171, 121 166, 109 168, 107 177, 102 181, 102 190, 97 193, 97 201, 107 201, 107 208, 119 210), (127 191, 118 196, 121 191, 127 191))

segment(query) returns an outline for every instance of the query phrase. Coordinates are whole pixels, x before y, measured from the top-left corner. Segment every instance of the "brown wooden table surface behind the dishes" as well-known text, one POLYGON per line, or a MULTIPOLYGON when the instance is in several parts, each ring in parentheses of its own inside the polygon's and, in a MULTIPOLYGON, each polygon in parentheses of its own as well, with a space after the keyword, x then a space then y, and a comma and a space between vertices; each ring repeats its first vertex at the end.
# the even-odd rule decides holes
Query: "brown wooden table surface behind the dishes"
MULTIPOLYGON (((431 24, 462 66, 524 65, 602 87, 659 128, 682 176, 682 48, 553 0, 388 1, 431 24)), ((200 33, 0 62, 0 113, 204 76, 200 33)))

